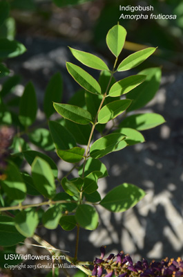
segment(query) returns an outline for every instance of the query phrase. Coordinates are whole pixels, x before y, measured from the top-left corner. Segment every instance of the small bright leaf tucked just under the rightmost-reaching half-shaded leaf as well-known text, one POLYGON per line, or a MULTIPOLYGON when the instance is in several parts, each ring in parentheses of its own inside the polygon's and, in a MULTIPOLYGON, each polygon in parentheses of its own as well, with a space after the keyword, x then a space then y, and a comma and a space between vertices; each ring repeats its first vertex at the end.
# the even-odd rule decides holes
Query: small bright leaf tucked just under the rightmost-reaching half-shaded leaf
POLYGON ((135 129, 124 127, 121 129, 117 129, 115 132, 124 134, 126 136, 125 141, 128 145, 144 143, 144 141, 145 141, 144 136, 142 136, 142 134, 135 129))

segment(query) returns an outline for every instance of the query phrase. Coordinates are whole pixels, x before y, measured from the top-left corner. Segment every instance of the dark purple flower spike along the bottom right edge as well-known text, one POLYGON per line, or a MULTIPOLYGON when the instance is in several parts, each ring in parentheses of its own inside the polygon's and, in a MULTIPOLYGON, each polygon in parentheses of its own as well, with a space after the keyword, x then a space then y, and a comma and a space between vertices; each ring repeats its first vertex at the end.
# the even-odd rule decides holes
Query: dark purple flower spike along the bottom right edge
POLYGON ((181 258, 177 260, 168 258, 162 260, 161 262, 148 262, 147 260, 142 260, 135 262, 131 256, 125 255, 121 251, 117 255, 110 254, 108 258, 104 259, 106 250, 101 247, 100 258, 95 258, 93 276, 101 277, 111 277, 113 275, 118 277, 180 277, 183 276, 183 261, 181 258))

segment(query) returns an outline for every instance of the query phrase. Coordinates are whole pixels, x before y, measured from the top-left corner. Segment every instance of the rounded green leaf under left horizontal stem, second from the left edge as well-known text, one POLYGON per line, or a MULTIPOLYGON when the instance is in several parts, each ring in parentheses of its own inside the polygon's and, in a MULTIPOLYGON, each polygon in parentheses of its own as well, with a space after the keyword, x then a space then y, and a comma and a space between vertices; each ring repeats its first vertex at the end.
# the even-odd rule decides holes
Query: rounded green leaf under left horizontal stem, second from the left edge
POLYGON ((56 229, 61 219, 61 212, 62 208, 60 204, 55 204, 51 208, 48 208, 42 217, 44 226, 50 230, 56 229))

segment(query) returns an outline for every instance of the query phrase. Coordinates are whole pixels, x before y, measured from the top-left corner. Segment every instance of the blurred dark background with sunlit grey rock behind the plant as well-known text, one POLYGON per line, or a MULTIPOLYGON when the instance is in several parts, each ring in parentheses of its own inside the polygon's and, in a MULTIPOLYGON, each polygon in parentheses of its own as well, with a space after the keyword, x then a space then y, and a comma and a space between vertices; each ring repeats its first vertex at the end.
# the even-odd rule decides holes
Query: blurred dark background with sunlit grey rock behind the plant
MULTIPOLYGON (((8 39, 15 37, 26 46, 27 52, 7 60, 6 63, 11 69, 11 75, 21 75, 21 79, 17 79, 14 86, 16 93, 22 93, 29 80, 35 84, 40 111, 46 84, 53 73, 60 71, 64 76, 65 100, 79 88, 66 72, 66 60, 75 62, 68 51, 68 45, 103 57, 111 67, 114 58, 106 47, 106 33, 119 21, 128 33, 120 60, 145 46, 158 46, 155 55, 137 69, 120 73, 117 79, 147 67, 160 66, 160 89, 155 98, 141 111, 160 113, 166 123, 143 132, 146 143, 105 157, 103 161, 110 177, 100 181, 103 194, 114 186, 129 182, 146 190, 147 195, 126 213, 110 214, 104 210, 99 211, 101 224, 98 229, 93 232, 81 230, 79 259, 93 260, 95 256, 99 256, 99 247, 102 244, 106 245, 108 253, 123 250, 134 260, 142 257, 156 260, 166 256, 183 257, 183 1, 8 2, 10 15, 0 28, 0 36, 8 39), (151 5, 154 15, 176 15, 177 18, 119 19, 122 13, 139 14, 122 12, 119 5, 151 5)), ((89 72, 97 78, 95 71, 89 72)), ((5 82, 6 78, 1 80, 5 82)), ((69 170, 69 165, 60 162, 59 168, 61 175, 64 175, 64 172, 69 170)), ((70 251, 70 255, 73 254, 75 230, 67 233, 61 228, 48 232, 43 229, 39 230, 39 235, 55 247, 66 249, 70 251)), ((17 272, 16 276, 25 276, 21 274, 24 274, 23 270, 17 272)), ((42 276, 39 274, 37 276, 42 276)))

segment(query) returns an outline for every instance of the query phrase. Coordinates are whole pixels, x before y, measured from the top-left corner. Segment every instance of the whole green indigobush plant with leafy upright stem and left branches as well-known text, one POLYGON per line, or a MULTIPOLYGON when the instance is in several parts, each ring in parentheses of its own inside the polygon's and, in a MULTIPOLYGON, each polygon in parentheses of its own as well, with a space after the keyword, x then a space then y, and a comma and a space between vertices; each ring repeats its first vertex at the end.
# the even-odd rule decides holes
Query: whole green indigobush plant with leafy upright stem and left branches
MULTIPOLYGON (((16 131, 8 150, 11 154, 1 168, 0 245, 4 251, 6 247, 32 237, 50 253, 59 253, 35 233, 37 226, 43 224, 46 229, 56 229, 60 225, 66 231, 76 227, 75 256, 65 255, 66 260, 91 275, 87 265, 93 265, 93 262, 81 262, 77 258, 79 229, 97 228, 97 206, 122 213, 144 197, 144 190, 124 183, 101 198, 97 186, 98 179, 108 175, 100 158, 135 143, 143 143, 144 136, 139 131, 164 123, 159 114, 136 112, 155 95, 160 85, 160 68, 145 69, 118 82, 115 80, 115 72, 133 69, 155 52, 153 47, 145 48, 117 65, 125 39, 126 30, 119 24, 108 31, 106 43, 115 57, 112 70, 99 57, 70 48, 81 64, 101 71, 99 81, 80 66, 66 62, 68 73, 82 89, 67 104, 61 102, 61 75, 56 73, 52 76, 43 106, 49 129, 44 125, 37 127, 35 123, 37 98, 32 82, 26 85, 21 97, 12 92, 12 98, 6 95, 10 95, 12 87, 17 84, 17 76, 4 82, 1 89, 1 125, 14 126, 16 131), (52 120, 55 110, 60 116, 52 120), (128 116, 129 111, 134 112, 128 116), (41 152, 32 150, 29 141, 41 148, 41 152), (59 179, 55 161, 43 150, 56 151, 60 159, 73 163, 73 169, 59 179), (25 161, 30 164, 31 172, 19 170, 25 161), (78 176, 72 178, 74 169, 78 170, 78 176), (41 195, 44 200, 40 198, 39 204, 31 204, 31 201, 27 204, 27 200, 25 204, 27 195, 41 195)), ((1 151, 7 156, 6 148, 7 143, 1 145, 1 151)), ((98 263, 94 262, 95 268, 98 263)))

